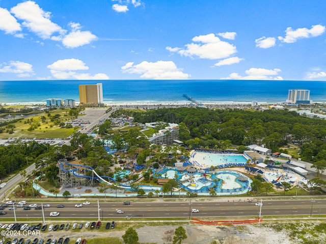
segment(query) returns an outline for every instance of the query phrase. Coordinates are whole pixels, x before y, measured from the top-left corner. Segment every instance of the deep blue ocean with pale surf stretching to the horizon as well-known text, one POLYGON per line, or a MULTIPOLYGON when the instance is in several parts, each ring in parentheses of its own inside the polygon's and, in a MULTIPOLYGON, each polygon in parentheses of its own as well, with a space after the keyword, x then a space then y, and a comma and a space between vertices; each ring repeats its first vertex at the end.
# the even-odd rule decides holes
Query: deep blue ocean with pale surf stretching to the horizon
POLYGON ((49 98, 75 99, 78 85, 103 84, 105 103, 284 102, 290 89, 310 90, 314 102, 326 101, 326 82, 285 80, 31 80, 0 81, 1 103, 45 103, 49 98))

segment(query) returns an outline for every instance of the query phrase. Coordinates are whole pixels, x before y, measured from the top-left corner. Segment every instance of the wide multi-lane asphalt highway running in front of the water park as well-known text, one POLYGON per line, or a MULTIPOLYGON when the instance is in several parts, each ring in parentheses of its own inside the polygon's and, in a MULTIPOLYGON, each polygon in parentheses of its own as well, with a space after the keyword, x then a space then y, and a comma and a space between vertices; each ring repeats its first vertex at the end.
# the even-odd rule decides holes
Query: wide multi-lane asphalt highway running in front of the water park
MULTIPOLYGON (((97 202, 91 202, 90 205, 83 207, 74 207, 76 203, 62 203, 65 207, 58 208, 60 203, 50 203, 51 207, 44 208, 46 220, 56 218, 126 218, 131 215, 133 218, 203 218, 203 217, 221 217, 233 216, 243 218, 246 216, 258 216, 260 206, 255 205, 256 202, 160 202, 160 203, 132 203, 123 205, 123 203, 100 203, 99 209, 97 202), (191 212, 191 209, 199 209, 199 212, 191 212), (117 213, 117 209, 124 210, 124 213, 117 213), (58 211, 58 217, 50 217, 51 211, 58 211)), ((26 204, 28 206, 29 204, 26 204)), ((1 219, 13 218, 14 211, 5 209, 7 214, 1 215, 1 219)), ((17 218, 42 218, 42 210, 23 210, 17 208, 15 210, 17 218)), ((263 201, 261 215, 307 215, 318 216, 326 214, 326 200, 278 200, 278 201, 263 201)))

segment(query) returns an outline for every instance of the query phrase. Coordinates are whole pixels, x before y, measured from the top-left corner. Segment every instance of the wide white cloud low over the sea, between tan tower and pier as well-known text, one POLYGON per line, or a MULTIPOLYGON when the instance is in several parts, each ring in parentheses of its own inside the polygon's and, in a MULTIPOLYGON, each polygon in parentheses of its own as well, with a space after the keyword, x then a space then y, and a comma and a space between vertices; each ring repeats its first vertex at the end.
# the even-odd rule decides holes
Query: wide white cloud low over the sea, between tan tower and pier
POLYGON ((141 78, 148 79, 187 79, 191 75, 183 73, 182 69, 177 68, 172 61, 143 61, 140 64, 133 65, 129 62, 121 67, 122 72, 129 74, 141 74, 141 78))

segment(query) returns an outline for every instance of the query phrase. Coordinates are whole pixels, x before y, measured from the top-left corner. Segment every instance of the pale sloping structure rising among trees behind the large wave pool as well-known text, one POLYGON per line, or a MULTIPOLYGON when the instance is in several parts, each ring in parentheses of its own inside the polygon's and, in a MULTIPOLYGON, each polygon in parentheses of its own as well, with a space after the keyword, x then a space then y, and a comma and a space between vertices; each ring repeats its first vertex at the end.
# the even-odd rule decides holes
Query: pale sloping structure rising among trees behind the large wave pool
POLYGON ((171 145, 173 140, 179 139, 179 125, 169 123, 169 126, 164 129, 160 129, 157 133, 154 133, 152 137, 147 137, 148 141, 156 145, 171 145))

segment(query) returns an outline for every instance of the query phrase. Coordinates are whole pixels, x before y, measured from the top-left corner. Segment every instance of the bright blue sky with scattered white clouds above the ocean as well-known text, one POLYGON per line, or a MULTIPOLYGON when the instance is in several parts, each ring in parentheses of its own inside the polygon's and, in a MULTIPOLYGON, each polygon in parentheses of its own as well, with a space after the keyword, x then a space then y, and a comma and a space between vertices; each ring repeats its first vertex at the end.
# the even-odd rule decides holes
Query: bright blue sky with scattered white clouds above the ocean
POLYGON ((326 80, 326 1, 0 0, 0 80, 326 80))

